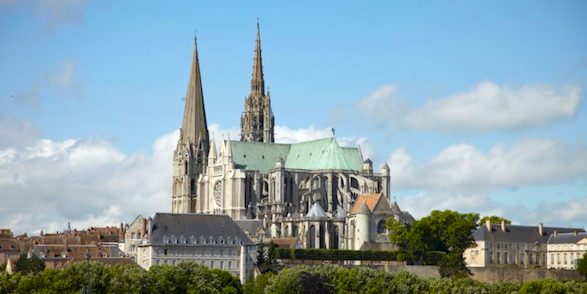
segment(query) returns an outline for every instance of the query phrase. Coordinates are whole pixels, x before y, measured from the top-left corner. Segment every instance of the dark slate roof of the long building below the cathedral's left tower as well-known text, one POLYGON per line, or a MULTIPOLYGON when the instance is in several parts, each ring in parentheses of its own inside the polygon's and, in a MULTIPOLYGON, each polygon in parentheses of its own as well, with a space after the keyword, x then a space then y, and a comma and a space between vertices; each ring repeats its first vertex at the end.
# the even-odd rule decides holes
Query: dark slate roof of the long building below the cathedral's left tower
POLYGON ((238 237, 244 244, 252 243, 228 215, 157 213, 151 222, 151 229, 151 243, 163 243, 164 235, 174 235, 176 238, 183 235, 188 240, 191 236, 222 237, 225 240, 238 237))

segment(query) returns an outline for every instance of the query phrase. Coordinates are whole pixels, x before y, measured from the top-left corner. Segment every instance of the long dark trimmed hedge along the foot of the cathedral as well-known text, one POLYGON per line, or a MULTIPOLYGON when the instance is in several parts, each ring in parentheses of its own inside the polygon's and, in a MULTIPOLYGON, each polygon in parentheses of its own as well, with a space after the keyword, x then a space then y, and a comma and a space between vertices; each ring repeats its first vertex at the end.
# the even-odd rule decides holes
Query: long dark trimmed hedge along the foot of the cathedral
POLYGON ((307 260, 396 260, 393 251, 355 251, 338 249, 283 249, 276 248, 278 259, 307 260))

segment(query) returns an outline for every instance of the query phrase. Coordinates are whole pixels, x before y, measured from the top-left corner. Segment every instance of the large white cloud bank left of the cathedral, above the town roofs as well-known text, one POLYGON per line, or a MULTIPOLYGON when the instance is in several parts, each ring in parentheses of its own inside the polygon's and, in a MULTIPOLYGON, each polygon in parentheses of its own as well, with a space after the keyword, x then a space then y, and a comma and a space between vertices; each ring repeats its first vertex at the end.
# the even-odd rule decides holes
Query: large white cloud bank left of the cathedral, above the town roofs
POLYGON ((149 154, 125 155, 102 139, 39 139, 0 148, 0 223, 17 232, 117 225, 168 211, 178 131, 149 154))

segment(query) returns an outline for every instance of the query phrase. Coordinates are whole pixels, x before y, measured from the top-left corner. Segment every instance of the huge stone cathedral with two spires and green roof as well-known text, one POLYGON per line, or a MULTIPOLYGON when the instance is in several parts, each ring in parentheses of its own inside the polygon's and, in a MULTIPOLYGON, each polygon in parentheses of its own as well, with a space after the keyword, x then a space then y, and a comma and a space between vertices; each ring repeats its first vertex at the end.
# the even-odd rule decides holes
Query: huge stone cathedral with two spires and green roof
POLYGON ((413 217, 390 200, 389 167, 374 171, 361 149, 334 136, 275 143, 275 117, 265 90, 261 35, 240 140, 208 133, 197 43, 173 155, 172 213, 226 214, 256 220, 266 238, 298 238, 305 248, 365 249, 389 244, 385 220, 413 217))

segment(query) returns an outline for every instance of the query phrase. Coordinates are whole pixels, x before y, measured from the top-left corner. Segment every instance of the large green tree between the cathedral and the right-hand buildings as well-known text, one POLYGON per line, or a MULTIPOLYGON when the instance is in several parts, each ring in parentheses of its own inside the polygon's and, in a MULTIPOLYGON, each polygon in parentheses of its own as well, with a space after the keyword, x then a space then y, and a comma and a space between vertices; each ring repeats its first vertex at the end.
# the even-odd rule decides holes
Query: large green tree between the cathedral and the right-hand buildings
POLYGON ((434 210, 429 216, 414 222, 409 230, 397 220, 386 222, 389 239, 398 247, 398 260, 410 263, 440 264, 443 277, 463 277, 470 274, 463 260, 463 252, 475 245, 472 231, 477 227, 479 215, 456 211, 434 210), (445 252, 440 260, 430 258, 427 252, 445 252))

